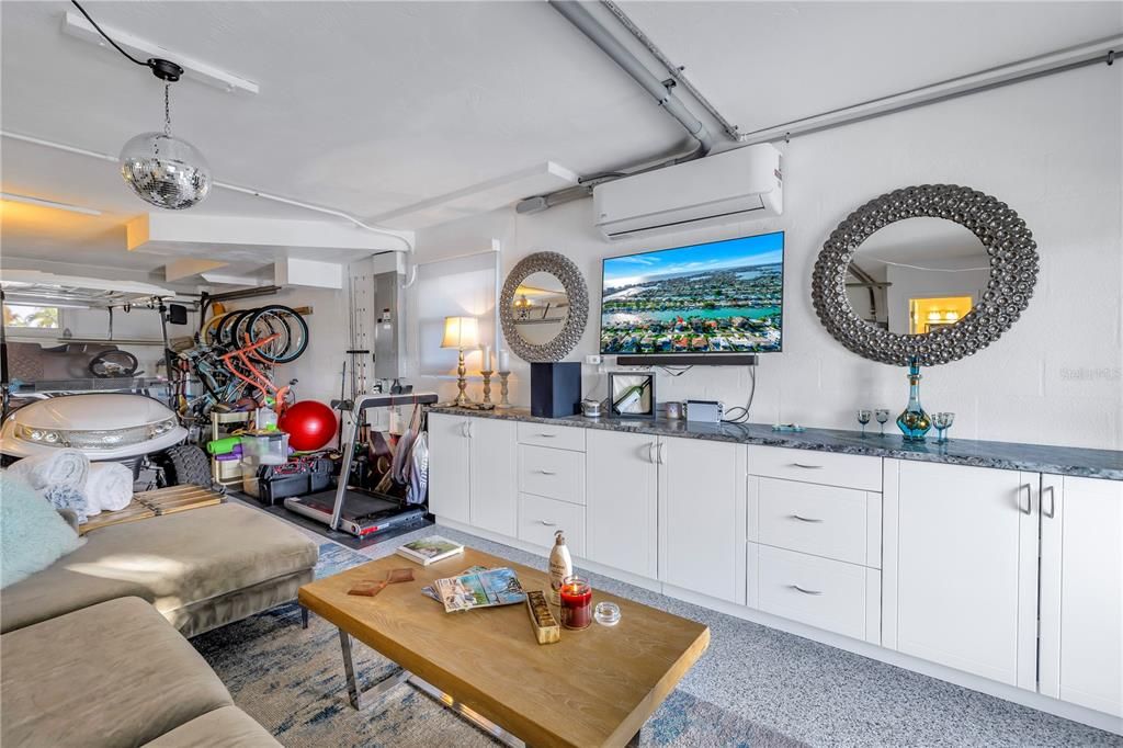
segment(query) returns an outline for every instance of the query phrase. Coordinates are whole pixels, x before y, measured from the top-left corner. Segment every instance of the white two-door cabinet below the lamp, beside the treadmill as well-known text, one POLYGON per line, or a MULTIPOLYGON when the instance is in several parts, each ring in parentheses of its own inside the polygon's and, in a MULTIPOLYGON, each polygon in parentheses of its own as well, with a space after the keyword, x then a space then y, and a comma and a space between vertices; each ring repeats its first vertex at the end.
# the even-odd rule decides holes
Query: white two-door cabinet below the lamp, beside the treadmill
POLYGON ((429 414, 429 511, 514 537, 514 423, 429 414))

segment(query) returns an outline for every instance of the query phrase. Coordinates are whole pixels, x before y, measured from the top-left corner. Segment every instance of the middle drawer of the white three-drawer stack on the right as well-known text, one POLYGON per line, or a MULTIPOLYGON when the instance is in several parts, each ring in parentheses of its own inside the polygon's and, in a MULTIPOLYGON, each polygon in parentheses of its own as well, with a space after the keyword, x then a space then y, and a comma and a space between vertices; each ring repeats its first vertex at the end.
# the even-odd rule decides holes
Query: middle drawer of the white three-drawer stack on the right
POLYGON ((776 478, 755 481, 751 540, 880 567, 882 494, 776 478))

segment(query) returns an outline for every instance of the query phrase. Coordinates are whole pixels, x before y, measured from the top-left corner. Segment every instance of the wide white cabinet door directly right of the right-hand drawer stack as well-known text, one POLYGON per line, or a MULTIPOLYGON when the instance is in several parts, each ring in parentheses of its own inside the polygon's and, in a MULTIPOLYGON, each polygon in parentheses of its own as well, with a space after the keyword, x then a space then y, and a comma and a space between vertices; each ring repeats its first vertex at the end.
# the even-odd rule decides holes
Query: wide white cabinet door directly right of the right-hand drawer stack
POLYGON ((883 644, 1034 690, 1040 476, 885 462, 883 644))

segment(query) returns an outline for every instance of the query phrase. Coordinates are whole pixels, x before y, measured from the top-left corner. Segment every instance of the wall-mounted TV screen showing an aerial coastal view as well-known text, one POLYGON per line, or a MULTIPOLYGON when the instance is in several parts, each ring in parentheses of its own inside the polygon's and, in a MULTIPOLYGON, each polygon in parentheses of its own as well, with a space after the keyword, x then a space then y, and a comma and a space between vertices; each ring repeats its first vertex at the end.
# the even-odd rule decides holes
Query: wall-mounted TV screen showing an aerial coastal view
POLYGON ((604 261, 602 354, 780 349, 784 232, 604 261))

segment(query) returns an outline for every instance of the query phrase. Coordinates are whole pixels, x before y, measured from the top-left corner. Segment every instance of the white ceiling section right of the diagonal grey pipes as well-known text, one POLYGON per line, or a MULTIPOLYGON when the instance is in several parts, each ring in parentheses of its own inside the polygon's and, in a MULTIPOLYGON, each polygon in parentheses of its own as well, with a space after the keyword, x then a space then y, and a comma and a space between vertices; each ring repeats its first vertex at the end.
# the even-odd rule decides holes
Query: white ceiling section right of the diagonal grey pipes
POLYGON ((741 133, 1123 33, 1121 2, 619 4, 741 133))

